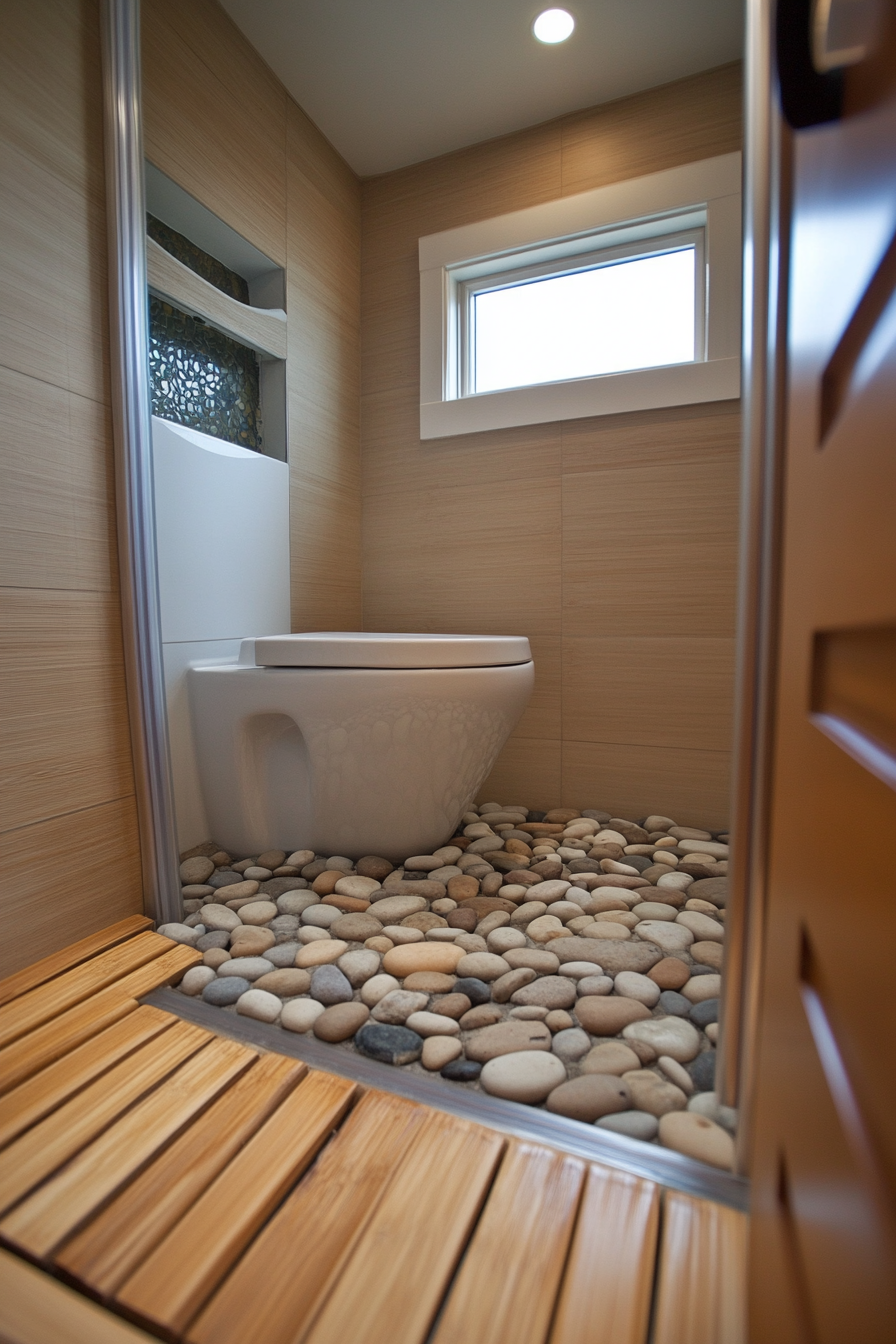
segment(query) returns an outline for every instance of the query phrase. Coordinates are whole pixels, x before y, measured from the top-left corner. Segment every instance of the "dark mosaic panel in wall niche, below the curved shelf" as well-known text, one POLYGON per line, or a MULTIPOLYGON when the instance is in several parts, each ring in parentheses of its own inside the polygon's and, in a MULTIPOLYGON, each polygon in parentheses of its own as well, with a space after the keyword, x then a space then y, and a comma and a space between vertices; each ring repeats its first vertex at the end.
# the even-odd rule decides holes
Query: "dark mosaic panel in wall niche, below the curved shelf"
POLYGON ((255 352, 153 296, 149 376, 153 415, 262 452, 255 352))

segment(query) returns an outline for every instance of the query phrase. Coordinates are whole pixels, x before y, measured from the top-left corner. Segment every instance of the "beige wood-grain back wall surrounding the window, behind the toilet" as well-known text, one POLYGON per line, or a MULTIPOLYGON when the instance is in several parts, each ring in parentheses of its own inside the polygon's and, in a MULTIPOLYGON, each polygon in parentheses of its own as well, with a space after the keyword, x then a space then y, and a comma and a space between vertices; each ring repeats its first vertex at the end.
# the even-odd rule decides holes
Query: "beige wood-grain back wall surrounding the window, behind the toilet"
POLYGON ((420 442, 420 235, 740 148, 725 66, 363 185, 367 629, 525 633, 484 797, 727 824, 739 409, 420 442))

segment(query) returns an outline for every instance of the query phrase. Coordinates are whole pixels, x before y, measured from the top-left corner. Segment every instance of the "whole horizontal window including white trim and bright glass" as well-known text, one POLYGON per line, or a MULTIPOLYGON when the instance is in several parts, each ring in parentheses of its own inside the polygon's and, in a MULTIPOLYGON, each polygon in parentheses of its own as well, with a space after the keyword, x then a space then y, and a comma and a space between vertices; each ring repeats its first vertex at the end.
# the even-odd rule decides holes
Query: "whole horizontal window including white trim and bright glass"
POLYGON ((420 437, 737 396, 739 177, 725 155, 420 239, 420 437))

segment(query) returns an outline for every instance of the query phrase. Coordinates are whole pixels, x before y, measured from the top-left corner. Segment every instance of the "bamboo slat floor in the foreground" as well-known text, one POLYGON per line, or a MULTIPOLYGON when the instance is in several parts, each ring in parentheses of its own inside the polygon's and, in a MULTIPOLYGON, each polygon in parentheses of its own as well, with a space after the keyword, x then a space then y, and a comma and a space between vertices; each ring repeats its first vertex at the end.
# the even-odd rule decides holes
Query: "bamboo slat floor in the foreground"
POLYGON ((0 982, 0 1339, 743 1344, 743 1214, 138 1003, 199 960, 0 982))

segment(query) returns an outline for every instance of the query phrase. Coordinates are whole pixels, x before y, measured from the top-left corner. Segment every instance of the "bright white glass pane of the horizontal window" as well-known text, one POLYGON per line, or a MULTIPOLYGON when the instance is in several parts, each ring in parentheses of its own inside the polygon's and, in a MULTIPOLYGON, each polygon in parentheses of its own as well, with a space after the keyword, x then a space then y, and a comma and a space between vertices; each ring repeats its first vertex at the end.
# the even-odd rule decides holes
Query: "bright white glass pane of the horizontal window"
POLYGON ((473 297, 474 391, 693 362, 696 250, 473 297))

